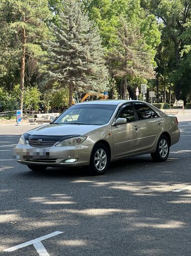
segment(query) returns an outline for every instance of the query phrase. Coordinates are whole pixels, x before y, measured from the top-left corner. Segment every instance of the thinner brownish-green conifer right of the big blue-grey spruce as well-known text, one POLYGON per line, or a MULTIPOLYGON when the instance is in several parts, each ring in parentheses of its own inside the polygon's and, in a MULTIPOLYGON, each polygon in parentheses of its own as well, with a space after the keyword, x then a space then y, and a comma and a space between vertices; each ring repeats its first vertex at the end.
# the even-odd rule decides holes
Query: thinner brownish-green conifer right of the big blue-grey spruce
MULTIPOLYGON (((133 27, 132 24, 130 26, 124 20, 121 20, 121 27, 118 29, 118 42, 108 53, 107 61, 110 74, 121 79, 123 99, 126 98, 128 79, 151 79, 154 76, 152 54, 144 39, 137 27, 133 27)), ((131 94, 133 95, 133 92, 131 94)))

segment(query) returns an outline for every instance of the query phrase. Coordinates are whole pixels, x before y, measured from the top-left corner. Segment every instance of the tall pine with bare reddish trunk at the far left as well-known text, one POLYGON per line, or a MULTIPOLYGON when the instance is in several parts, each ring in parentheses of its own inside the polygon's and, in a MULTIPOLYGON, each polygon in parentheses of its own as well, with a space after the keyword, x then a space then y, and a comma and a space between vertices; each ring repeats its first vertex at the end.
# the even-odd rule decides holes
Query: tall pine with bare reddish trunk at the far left
MULTIPOLYGON (((46 39, 48 29, 45 21, 49 17, 51 13, 48 0, 0 1, 0 27, 4 28, 7 38, 4 49, 8 58, 11 53, 11 62, 15 57, 17 57, 17 62, 20 59, 21 110, 23 109, 26 64, 29 66, 29 62, 33 62, 34 65, 35 62, 36 65, 35 56, 42 55, 40 42, 46 39)), ((0 39, 0 45, 2 41, 3 39, 0 39)))

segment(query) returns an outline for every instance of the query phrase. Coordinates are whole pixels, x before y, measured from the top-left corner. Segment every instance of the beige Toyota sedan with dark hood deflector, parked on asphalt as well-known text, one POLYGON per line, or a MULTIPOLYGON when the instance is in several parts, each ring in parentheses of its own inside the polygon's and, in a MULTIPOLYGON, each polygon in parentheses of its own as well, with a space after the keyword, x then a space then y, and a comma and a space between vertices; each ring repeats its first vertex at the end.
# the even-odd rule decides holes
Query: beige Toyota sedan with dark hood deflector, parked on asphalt
POLYGON ((126 157, 150 153, 163 162, 179 138, 175 116, 146 102, 107 99, 75 104, 52 123, 24 133, 15 154, 31 170, 88 166, 101 175, 110 162, 126 157))

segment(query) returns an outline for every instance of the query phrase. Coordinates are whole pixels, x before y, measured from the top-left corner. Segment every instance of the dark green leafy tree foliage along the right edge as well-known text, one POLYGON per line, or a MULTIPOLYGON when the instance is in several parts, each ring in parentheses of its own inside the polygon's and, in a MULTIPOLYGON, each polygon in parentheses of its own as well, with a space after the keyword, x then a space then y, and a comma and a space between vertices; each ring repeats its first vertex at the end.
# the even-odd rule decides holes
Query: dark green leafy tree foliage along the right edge
POLYGON ((176 98, 186 99, 191 90, 191 2, 142 0, 142 6, 163 24, 162 43, 156 58, 158 81, 165 87, 171 83, 176 98))

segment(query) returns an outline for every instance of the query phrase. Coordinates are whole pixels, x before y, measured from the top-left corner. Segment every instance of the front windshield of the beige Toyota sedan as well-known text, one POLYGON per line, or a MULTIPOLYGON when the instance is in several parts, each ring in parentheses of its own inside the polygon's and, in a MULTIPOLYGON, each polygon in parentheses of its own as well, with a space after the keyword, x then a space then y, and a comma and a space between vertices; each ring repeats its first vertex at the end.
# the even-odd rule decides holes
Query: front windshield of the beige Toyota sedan
POLYGON ((75 105, 53 123, 103 125, 108 123, 115 109, 115 105, 75 105))

